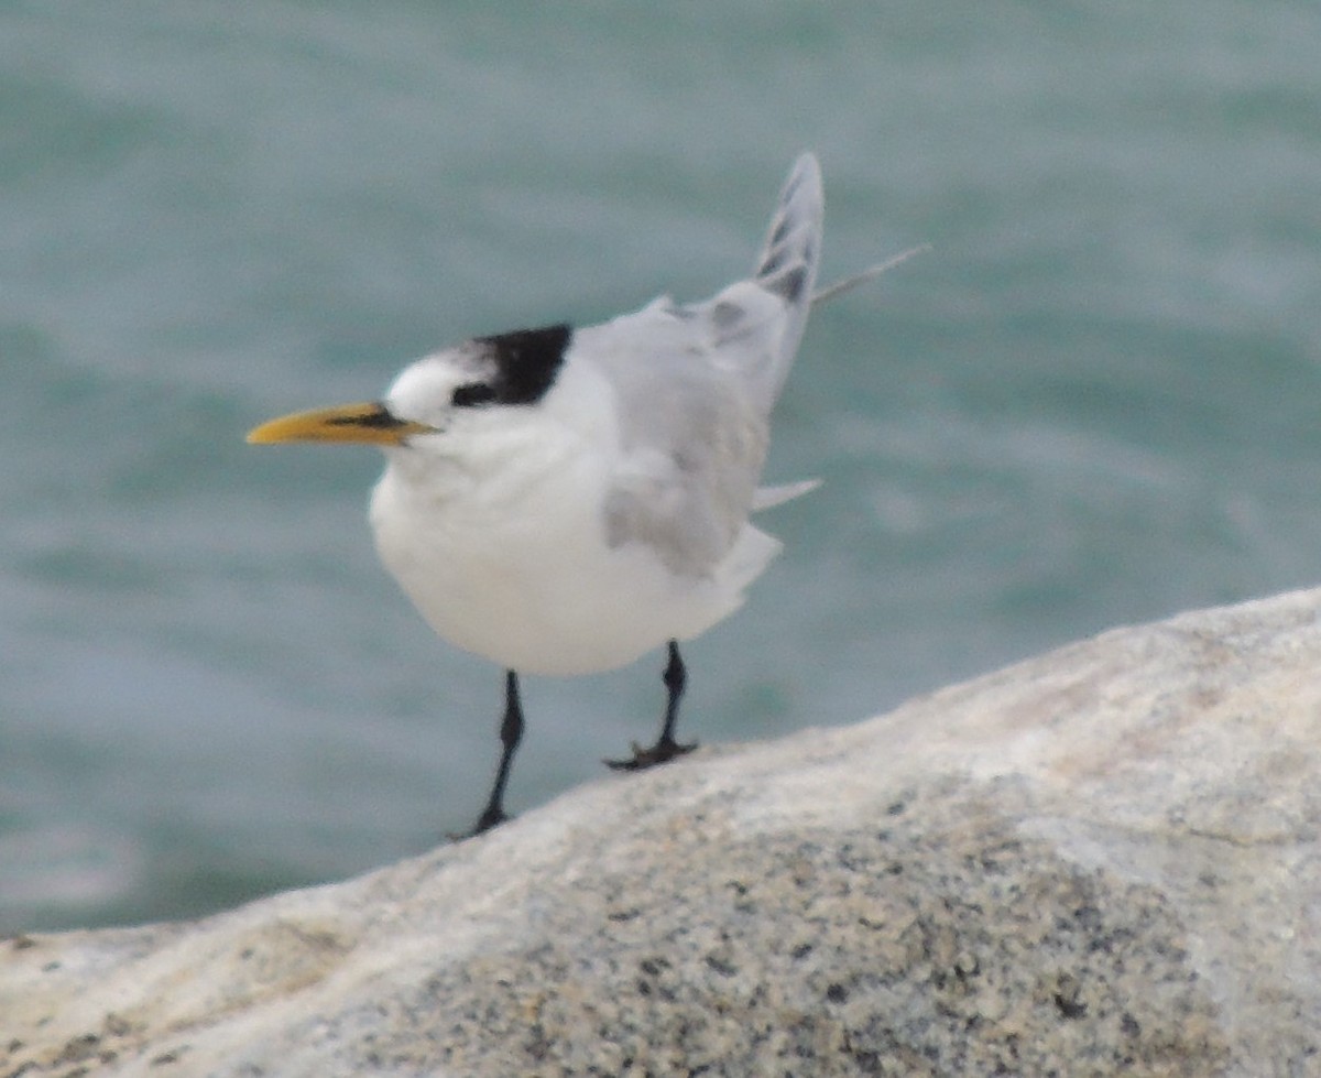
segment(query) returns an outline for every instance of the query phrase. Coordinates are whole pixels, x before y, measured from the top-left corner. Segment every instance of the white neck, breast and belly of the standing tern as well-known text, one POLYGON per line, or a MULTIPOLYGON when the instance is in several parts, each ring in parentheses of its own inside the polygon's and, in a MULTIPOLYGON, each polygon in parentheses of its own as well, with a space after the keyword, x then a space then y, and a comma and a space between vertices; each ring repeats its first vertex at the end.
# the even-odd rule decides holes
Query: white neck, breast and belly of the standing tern
POLYGON ((546 400, 390 453, 373 491, 382 561, 446 641, 526 674, 588 674, 691 639, 779 550, 744 526, 700 572, 608 527, 626 458, 613 388, 568 365, 546 400))

